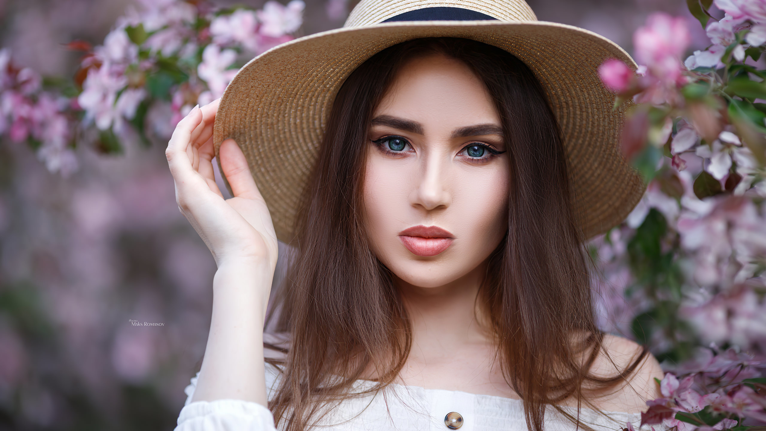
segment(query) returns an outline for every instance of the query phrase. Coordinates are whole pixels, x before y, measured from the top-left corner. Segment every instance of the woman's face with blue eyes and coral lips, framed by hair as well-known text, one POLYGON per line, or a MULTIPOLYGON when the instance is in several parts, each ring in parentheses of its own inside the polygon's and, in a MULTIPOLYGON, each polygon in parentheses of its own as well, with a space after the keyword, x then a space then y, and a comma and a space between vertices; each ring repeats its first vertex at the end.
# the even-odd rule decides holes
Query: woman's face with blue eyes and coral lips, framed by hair
POLYGON ((483 83, 460 61, 418 58, 372 118, 364 202, 373 252, 411 285, 467 275, 508 226, 509 158, 483 83))

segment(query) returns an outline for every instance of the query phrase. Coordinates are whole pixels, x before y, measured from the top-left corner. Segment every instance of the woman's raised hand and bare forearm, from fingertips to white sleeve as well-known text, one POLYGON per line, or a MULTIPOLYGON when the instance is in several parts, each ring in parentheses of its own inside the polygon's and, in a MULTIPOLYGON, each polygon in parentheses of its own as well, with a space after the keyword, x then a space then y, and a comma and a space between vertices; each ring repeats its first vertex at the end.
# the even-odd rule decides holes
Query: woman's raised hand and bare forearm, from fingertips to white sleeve
POLYGON ((218 100, 178 123, 165 155, 178 209, 213 253, 213 312, 193 399, 267 405, 264 317, 277 265, 277 235, 247 160, 234 140, 221 143, 221 169, 234 197, 215 184, 213 123, 218 100))

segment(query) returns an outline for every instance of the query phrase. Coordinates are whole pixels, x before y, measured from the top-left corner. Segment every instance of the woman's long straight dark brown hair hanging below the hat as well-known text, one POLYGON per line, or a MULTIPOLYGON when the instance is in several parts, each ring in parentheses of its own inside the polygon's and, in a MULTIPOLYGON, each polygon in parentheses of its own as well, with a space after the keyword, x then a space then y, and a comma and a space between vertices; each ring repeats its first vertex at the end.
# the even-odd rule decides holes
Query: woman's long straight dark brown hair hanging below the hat
POLYGON ((291 348, 281 361, 282 380, 270 409, 290 431, 309 428, 354 396, 352 384, 367 370, 377 377, 371 390, 385 388, 408 358, 407 311, 368 245, 362 183, 375 107, 399 68, 428 54, 444 54, 473 70, 493 97, 508 141, 508 232, 489 258, 478 300, 496 334, 506 381, 523 400, 529 429, 542 431, 546 406, 571 397, 578 405, 588 403, 584 387, 607 390, 626 380, 646 354, 614 377, 591 374, 603 337, 594 320, 561 131, 535 75, 489 44, 415 39, 365 61, 332 105, 279 306, 277 327, 290 333, 291 348))

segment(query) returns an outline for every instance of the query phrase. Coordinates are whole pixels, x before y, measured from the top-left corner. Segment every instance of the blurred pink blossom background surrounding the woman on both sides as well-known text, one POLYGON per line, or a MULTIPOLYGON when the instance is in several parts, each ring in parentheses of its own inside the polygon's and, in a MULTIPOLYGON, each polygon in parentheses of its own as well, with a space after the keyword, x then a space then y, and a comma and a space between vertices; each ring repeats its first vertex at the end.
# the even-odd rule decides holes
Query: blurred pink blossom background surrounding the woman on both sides
MULTIPOLYGON (((650 186, 590 249, 601 326, 672 372, 645 422, 763 425, 766 5, 529 4, 643 66, 601 75, 617 104, 643 102, 623 144, 650 186)), ((238 66, 352 6, 0 0, 0 429, 172 429, 215 265, 175 205, 166 142, 238 66)))

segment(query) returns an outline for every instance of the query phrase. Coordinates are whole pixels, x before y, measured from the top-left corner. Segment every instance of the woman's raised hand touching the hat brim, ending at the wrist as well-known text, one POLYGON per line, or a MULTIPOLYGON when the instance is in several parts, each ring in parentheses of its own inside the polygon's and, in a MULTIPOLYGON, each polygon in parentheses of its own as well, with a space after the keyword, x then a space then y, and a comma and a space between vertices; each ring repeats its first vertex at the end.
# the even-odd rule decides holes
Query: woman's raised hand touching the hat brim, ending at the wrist
POLYGON ((247 160, 234 140, 224 140, 219 150, 221 169, 234 197, 224 200, 215 183, 211 160, 219 100, 192 109, 170 138, 165 156, 175 179, 175 200, 208 245, 218 268, 224 262, 249 261, 267 263, 273 273, 277 235, 247 160))

